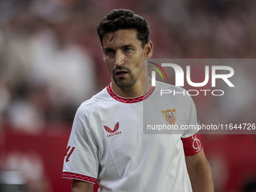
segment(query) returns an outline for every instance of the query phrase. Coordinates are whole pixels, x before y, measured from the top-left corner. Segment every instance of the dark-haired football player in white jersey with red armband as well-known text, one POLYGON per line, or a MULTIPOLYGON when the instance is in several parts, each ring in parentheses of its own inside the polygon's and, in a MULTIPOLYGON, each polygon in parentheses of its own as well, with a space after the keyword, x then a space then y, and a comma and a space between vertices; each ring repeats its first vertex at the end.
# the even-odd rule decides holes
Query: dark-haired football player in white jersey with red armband
POLYGON ((63 167, 63 177, 73 179, 72 192, 93 191, 96 181, 99 191, 212 192, 212 171, 199 134, 143 134, 143 120, 167 122, 161 109, 172 109, 172 125, 197 124, 189 96, 160 97, 160 89, 181 88, 158 81, 151 86, 148 23, 132 11, 114 10, 97 32, 112 78, 75 115, 63 167), (151 112, 143 118, 145 102, 151 112), (194 142, 199 148, 193 148, 194 142))

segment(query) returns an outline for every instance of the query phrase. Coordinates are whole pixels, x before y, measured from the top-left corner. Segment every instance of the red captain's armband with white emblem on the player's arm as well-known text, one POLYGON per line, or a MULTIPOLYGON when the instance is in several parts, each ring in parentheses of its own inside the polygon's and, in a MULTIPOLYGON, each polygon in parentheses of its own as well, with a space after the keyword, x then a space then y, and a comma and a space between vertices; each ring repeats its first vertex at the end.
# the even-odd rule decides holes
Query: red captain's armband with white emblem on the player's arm
POLYGON ((198 154, 202 148, 202 140, 199 133, 187 138, 181 138, 183 142, 184 154, 185 156, 192 156, 198 154))

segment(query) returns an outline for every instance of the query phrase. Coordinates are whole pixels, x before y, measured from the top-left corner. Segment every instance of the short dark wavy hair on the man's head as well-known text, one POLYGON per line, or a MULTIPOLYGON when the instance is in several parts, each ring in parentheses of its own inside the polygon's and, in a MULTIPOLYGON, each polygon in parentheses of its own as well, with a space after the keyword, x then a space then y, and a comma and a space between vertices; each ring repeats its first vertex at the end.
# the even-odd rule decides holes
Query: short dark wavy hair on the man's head
POLYGON ((97 32, 100 42, 108 32, 117 32, 119 29, 136 29, 137 38, 142 41, 142 48, 148 43, 148 23, 133 11, 118 9, 107 14, 98 24, 97 32))

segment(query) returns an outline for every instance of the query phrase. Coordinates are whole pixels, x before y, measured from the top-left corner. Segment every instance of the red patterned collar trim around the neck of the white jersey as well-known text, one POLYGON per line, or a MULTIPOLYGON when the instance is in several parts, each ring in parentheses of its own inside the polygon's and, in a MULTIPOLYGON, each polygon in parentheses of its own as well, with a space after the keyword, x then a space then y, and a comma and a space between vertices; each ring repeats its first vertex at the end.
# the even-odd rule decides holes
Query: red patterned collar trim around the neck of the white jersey
POLYGON ((116 93, 114 93, 114 91, 112 90, 110 84, 107 87, 108 93, 109 95, 117 100, 118 102, 124 102, 124 103, 134 103, 134 102, 141 102, 144 99, 147 99, 149 96, 151 96, 151 94, 154 92, 154 87, 151 87, 147 93, 145 93, 143 96, 138 96, 138 97, 134 97, 134 98, 124 98, 121 96, 117 96, 116 93))

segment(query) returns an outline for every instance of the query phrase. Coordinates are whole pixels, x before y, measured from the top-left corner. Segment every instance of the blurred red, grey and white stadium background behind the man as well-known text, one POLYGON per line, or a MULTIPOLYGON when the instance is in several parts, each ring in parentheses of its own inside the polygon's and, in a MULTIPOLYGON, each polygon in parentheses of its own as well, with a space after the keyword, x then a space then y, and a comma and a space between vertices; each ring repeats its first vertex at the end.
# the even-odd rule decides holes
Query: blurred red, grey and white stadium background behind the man
MULTIPOLYGON (((148 20, 155 59, 256 56, 254 0, 1 0, 1 192, 71 191, 62 162, 72 120, 111 81, 96 26, 117 8, 148 20)), ((241 89, 225 99, 193 97, 201 122, 256 123, 255 64, 236 64, 241 89)), ((202 82, 204 68, 193 67, 192 80, 202 82)), ((202 139, 216 192, 256 191, 255 135, 202 139)))

